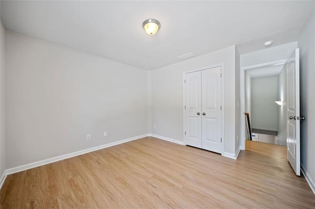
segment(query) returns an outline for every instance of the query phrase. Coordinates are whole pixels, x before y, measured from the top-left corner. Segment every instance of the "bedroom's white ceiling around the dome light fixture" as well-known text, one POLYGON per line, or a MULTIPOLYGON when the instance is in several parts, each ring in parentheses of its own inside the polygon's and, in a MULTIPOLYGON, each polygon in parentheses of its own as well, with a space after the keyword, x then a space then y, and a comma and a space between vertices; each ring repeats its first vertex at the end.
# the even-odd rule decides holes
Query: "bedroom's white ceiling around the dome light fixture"
POLYGON ((7 30, 145 70, 237 45, 242 53, 296 41, 314 1, 1 1, 7 30), (157 19, 156 35, 142 23, 157 19))

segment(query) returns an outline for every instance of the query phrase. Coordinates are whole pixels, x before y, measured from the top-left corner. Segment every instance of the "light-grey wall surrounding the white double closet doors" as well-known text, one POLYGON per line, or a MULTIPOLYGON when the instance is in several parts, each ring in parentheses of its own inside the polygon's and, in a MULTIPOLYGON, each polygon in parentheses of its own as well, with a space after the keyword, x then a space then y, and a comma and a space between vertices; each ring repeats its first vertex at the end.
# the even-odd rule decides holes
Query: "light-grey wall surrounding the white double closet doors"
POLYGON ((184 72, 224 64, 224 139, 225 152, 235 154, 235 47, 191 58, 152 71, 153 134, 184 140, 184 72))

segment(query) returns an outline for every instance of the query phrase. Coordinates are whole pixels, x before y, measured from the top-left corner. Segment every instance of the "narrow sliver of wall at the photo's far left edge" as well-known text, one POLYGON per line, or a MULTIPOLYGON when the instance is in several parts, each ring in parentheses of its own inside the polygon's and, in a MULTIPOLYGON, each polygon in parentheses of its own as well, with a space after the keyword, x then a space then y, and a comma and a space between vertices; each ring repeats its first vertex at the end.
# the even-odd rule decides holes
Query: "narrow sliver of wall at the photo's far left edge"
POLYGON ((0 21, 0 178, 5 166, 5 30, 0 21))

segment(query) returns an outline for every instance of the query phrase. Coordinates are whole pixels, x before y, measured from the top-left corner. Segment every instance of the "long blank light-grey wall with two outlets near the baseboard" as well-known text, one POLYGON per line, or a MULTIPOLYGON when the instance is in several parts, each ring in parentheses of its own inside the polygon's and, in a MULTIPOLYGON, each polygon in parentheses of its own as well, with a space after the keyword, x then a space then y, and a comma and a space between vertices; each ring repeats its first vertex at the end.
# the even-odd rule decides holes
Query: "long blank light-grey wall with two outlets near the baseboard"
POLYGON ((7 169, 147 133, 146 71, 9 31, 6 47, 7 169))

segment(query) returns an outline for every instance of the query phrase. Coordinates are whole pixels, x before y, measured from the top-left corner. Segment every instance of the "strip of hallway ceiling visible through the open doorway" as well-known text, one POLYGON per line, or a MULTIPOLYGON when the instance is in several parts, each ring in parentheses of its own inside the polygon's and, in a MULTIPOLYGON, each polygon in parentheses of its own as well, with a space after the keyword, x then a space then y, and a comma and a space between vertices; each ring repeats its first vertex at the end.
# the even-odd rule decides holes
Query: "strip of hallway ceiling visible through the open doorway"
POLYGON ((250 76, 250 78, 252 79, 274 77, 274 76, 279 76, 283 67, 284 67, 284 64, 261 67, 261 68, 246 70, 245 74, 250 76))

